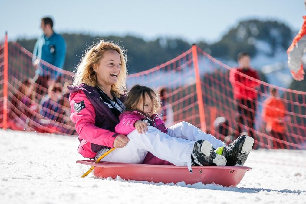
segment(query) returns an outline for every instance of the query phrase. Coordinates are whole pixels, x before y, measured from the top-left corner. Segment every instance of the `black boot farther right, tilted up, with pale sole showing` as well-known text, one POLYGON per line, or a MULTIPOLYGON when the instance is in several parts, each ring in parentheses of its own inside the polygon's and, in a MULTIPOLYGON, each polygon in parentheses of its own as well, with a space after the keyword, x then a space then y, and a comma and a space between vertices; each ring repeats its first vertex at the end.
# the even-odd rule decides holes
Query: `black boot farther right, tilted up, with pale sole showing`
POLYGON ((241 135, 230 144, 229 148, 224 148, 222 154, 226 160, 227 166, 243 166, 252 150, 254 139, 252 137, 241 135))

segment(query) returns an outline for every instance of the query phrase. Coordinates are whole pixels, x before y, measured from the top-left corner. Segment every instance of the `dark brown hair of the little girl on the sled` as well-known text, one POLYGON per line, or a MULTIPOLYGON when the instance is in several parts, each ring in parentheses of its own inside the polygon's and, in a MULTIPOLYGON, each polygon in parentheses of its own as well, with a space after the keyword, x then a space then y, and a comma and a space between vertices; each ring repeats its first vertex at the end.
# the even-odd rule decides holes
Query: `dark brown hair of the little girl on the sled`
POLYGON ((126 111, 137 110, 136 106, 140 101, 143 101, 145 103, 144 99, 146 94, 150 97, 152 103, 155 104, 155 110, 153 110, 153 113, 157 113, 160 108, 160 101, 159 97, 157 97, 156 92, 149 87, 138 84, 133 86, 129 91, 129 96, 124 103, 126 111))

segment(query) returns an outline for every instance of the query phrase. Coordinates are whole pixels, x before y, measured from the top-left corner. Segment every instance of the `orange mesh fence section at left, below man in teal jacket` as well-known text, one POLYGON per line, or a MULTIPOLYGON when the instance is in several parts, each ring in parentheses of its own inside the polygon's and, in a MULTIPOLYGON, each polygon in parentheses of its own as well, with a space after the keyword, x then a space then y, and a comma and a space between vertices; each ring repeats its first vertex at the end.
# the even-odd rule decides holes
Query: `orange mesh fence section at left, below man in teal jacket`
MULTIPOLYGON (((0 46, 0 102, 3 104, 4 44, 0 46)), ((76 134, 69 118, 69 93, 71 73, 40 61, 39 68, 47 69, 46 76, 35 74, 33 55, 17 43, 8 43, 8 119, 7 128, 57 134, 76 134), (56 83, 50 78, 56 72, 56 83)), ((3 114, 3 106, 1 106, 3 114)), ((1 121, 1 126, 3 122, 1 121)))

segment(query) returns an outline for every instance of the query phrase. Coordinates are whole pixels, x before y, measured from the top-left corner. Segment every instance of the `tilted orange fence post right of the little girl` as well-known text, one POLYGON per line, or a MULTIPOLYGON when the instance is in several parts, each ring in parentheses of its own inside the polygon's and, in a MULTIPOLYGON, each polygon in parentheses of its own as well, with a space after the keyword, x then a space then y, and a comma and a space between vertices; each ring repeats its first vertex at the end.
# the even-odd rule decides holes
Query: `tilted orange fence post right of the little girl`
POLYGON ((197 95, 197 98, 198 98, 201 130, 203 132, 206 132, 204 105, 203 105, 201 79, 200 79, 200 73, 199 73, 198 53, 197 53, 196 44, 192 45, 192 60, 193 60, 194 71, 195 71, 195 75, 196 75, 196 95, 197 95))

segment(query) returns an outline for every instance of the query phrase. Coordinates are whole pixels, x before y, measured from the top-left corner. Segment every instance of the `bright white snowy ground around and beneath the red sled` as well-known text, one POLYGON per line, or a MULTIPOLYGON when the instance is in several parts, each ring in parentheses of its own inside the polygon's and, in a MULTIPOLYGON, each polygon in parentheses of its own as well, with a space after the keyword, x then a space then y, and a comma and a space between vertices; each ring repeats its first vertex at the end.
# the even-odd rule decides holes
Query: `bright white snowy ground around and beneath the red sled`
POLYGON ((75 137, 0 129, 0 203, 305 203, 306 150, 252 150, 237 187, 80 176, 75 137), (288 165, 289 164, 289 165, 288 165))

